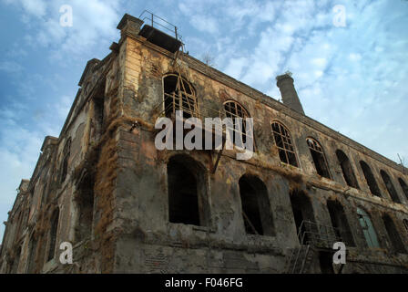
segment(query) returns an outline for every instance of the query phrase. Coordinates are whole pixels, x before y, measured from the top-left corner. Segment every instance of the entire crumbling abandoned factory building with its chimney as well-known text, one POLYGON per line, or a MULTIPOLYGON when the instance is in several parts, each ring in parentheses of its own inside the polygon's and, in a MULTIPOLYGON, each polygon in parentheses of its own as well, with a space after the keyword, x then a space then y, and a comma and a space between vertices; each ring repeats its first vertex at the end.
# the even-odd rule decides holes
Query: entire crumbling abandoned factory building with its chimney
POLYGON ((305 116, 288 74, 280 103, 183 53, 177 30, 117 28, 19 186, 0 272, 408 272, 407 169, 305 116), (159 151, 155 122, 175 110, 253 118, 253 156, 159 151))

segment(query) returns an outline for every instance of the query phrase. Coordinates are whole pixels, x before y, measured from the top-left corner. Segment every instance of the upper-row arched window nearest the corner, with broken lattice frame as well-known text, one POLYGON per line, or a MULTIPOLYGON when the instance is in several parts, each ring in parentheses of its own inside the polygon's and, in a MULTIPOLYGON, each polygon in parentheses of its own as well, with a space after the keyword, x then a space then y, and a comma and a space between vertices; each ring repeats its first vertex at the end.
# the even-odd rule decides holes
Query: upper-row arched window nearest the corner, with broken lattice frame
POLYGON ((195 91, 186 79, 170 74, 163 78, 163 89, 166 117, 175 117, 176 110, 182 110, 185 119, 199 116, 195 91))

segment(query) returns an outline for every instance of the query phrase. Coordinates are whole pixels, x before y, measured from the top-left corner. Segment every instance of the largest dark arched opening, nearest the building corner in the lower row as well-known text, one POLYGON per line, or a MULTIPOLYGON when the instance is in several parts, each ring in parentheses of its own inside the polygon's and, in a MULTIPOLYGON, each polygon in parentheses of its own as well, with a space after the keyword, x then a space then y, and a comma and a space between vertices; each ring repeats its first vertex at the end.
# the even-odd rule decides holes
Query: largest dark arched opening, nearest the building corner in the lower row
POLYGON ((168 162, 168 220, 205 226, 209 220, 206 171, 187 155, 168 162))

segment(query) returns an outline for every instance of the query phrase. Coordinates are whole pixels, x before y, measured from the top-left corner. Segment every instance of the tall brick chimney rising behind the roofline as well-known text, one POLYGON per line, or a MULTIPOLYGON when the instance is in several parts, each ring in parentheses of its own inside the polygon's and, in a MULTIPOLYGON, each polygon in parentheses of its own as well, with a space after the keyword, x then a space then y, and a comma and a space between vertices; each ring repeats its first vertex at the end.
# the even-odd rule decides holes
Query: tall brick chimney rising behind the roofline
POLYGON ((285 73, 276 77, 276 85, 280 89, 280 95, 282 96, 283 104, 290 107, 291 110, 304 115, 303 107, 301 106, 301 100, 298 97, 298 93, 293 85, 293 78, 291 73, 285 73))

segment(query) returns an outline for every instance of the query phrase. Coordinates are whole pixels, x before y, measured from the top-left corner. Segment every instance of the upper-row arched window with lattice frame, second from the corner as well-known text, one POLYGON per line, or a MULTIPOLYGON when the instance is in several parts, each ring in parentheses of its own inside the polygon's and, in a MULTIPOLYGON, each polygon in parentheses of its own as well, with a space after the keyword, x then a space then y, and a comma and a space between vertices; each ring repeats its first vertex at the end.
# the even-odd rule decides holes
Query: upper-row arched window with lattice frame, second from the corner
POLYGON ((238 141, 238 137, 238 139, 245 143, 247 141, 247 130, 248 134, 252 134, 250 132, 251 129, 247 129, 248 125, 245 120, 250 118, 250 114, 238 102, 233 100, 226 101, 224 103, 224 110, 227 118, 232 119, 233 123, 233 129, 231 130, 234 130, 235 137, 231 137, 231 139, 233 139, 233 141, 238 141), (240 124, 238 118, 242 119, 242 124, 240 124))

